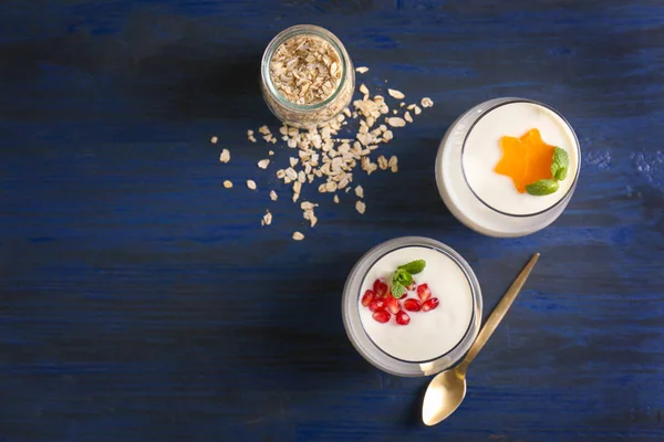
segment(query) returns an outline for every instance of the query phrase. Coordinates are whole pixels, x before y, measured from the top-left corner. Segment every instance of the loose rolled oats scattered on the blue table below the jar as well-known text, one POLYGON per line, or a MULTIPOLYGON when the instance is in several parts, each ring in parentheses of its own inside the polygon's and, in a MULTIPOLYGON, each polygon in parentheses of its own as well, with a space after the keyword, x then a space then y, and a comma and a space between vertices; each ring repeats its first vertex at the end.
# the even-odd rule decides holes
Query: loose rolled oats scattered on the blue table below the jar
MULTIPOLYGON (((369 69, 357 67, 356 71, 364 74, 369 69)), ((362 98, 355 99, 352 105, 343 108, 341 114, 321 127, 300 129, 284 124, 278 129, 278 134, 273 134, 268 126, 258 128, 258 134, 268 146, 276 145, 280 139, 284 143, 282 148, 292 151, 288 164, 281 167, 274 166, 273 161, 267 158, 259 160, 257 167, 261 171, 274 173, 279 181, 289 186, 293 203, 298 203, 305 186, 314 186, 320 198, 330 198, 334 203, 340 203, 341 199, 346 198, 352 201, 359 213, 364 214, 370 210, 364 201, 364 188, 355 185, 355 181, 377 171, 396 173, 398 158, 396 156, 387 158, 380 154, 381 146, 394 139, 394 131, 414 123, 414 117, 422 114, 423 108, 434 105, 428 97, 407 104, 406 95, 396 90, 387 90, 388 97, 380 94, 372 95, 364 84, 357 91, 362 94, 362 98)), ((297 94, 300 96, 300 92, 297 94)), ((247 138, 251 143, 257 143, 256 131, 247 130, 247 138)), ((227 162, 229 158, 230 154, 224 149, 220 161, 227 162)), ((249 189, 257 189, 253 180, 247 183, 249 189)), ((230 187, 225 185, 227 188, 231 186, 232 183, 230 187)), ((277 190, 260 190, 269 194, 271 201, 278 200, 277 190)), ((319 221, 315 215, 318 206, 312 201, 299 203, 302 218, 311 228, 319 221)), ((272 213, 267 210, 259 222, 261 225, 271 225, 272 219, 272 213)), ((297 231, 292 234, 292 239, 301 241, 304 234, 297 231)))

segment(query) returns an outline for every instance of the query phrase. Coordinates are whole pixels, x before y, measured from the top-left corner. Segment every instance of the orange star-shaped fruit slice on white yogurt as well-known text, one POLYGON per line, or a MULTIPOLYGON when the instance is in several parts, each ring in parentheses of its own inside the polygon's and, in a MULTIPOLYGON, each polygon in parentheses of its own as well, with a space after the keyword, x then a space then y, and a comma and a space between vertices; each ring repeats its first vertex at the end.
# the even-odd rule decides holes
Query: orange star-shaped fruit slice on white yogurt
POLYGON ((546 144, 538 129, 530 129, 520 138, 501 137, 502 158, 494 169, 497 173, 511 178, 520 193, 526 186, 541 179, 550 179, 551 161, 556 146, 546 144))

